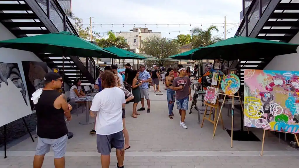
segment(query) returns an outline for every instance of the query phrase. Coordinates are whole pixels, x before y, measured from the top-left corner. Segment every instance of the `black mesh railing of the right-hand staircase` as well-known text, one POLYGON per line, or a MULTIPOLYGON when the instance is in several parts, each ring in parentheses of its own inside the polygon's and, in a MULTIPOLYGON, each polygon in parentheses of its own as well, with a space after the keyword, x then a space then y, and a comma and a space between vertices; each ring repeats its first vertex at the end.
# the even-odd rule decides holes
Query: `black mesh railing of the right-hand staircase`
POLYGON ((242 22, 239 25, 236 35, 246 37, 250 36, 250 33, 257 25, 257 22, 262 17, 270 2, 271 0, 252 0, 247 9, 243 8, 245 14, 243 15, 242 22))

